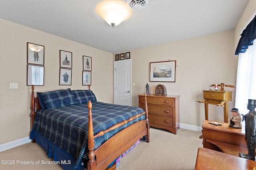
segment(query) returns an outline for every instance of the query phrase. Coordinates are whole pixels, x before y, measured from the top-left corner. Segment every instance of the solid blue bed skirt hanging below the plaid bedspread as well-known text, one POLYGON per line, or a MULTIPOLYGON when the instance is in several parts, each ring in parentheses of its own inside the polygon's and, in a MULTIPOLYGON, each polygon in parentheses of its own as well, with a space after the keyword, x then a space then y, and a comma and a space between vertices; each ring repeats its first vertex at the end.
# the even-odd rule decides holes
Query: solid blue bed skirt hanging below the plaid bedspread
MULTIPOLYGON (((50 142, 50 140, 42 136, 42 134, 34 130, 30 132, 30 139, 36 140, 36 143, 38 143, 46 151, 48 158, 53 158, 53 160, 56 161, 57 164, 60 164, 64 170, 75 170, 75 156, 72 156, 60 149, 58 146, 50 142)), ((81 164, 76 170, 84 170, 84 165, 81 164)))

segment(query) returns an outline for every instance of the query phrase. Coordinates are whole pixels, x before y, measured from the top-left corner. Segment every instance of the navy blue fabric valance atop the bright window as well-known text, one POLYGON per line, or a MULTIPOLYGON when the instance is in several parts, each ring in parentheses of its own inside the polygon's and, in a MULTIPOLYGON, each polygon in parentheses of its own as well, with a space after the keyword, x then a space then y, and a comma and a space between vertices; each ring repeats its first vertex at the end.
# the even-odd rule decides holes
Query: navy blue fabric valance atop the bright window
POLYGON ((256 16, 253 20, 248 24, 248 26, 244 29, 241 34, 241 38, 236 47, 235 55, 239 55, 239 53, 245 53, 246 49, 248 49, 249 45, 253 45, 253 41, 256 39, 256 16))

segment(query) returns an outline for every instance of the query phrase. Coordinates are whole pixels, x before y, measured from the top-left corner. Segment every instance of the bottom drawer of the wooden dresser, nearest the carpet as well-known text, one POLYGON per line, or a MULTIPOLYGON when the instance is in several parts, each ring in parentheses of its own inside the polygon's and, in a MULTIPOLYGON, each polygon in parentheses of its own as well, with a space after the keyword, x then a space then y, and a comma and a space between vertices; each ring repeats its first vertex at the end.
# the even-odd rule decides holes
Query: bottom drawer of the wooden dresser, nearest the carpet
MULTIPOLYGON (((157 124, 157 125, 164 125, 168 127, 173 126, 172 117, 164 117, 164 116, 148 114, 148 121, 150 126, 152 125, 150 123, 157 124)), ((152 127, 154 127, 154 125, 152 125, 152 127)))

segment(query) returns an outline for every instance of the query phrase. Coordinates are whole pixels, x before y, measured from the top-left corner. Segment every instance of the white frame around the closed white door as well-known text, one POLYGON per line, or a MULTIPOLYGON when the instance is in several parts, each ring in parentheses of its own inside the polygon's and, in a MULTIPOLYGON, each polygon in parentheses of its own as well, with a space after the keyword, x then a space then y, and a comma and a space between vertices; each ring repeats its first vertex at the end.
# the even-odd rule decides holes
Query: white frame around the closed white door
POLYGON ((130 106, 132 106, 132 59, 114 61, 114 104, 116 104, 116 63, 127 61, 130 63, 130 106))

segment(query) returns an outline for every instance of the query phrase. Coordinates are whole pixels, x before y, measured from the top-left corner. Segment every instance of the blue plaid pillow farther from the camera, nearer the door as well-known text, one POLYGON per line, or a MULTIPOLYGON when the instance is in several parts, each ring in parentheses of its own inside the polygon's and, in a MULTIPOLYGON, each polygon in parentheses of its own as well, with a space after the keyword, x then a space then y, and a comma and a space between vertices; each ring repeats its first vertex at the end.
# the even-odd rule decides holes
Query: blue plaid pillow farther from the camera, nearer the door
POLYGON ((91 90, 73 90, 73 93, 79 104, 88 103, 88 101, 97 101, 91 90))

